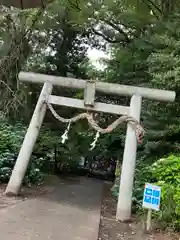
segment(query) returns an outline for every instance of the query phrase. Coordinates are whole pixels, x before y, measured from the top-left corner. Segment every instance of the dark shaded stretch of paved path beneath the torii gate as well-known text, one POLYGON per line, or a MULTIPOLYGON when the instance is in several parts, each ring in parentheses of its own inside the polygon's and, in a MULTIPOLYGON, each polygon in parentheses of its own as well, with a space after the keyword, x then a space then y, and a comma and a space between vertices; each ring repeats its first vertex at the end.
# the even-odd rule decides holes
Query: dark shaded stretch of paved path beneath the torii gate
POLYGON ((101 204, 103 183, 101 180, 87 177, 60 178, 55 190, 43 199, 87 210, 96 210, 101 204))

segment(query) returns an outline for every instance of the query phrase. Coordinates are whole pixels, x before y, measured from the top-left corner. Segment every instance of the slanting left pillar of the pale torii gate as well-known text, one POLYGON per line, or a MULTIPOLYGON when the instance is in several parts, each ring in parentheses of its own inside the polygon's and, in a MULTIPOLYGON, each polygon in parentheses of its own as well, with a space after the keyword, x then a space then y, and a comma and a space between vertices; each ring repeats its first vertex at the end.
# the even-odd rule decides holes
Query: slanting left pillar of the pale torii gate
POLYGON ((46 101, 49 95, 52 93, 53 85, 49 82, 44 83, 41 94, 39 96, 36 108, 34 110, 31 122, 27 129, 26 135, 22 147, 18 155, 18 161, 16 161, 15 167, 12 171, 11 178, 6 188, 7 195, 18 195, 24 175, 26 173, 31 154, 36 143, 37 137, 41 125, 44 120, 47 105, 46 101))

